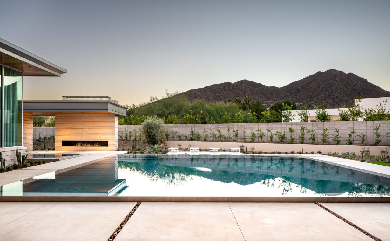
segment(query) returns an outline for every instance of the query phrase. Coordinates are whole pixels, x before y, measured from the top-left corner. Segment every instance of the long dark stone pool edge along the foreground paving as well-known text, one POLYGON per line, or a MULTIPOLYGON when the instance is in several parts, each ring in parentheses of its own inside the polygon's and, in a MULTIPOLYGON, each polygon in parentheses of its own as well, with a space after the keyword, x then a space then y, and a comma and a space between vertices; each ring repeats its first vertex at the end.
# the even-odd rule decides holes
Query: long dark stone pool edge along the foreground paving
POLYGON ((0 202, 367 202, 367 203, 390 203, 390 197, 0 196, 0 202))

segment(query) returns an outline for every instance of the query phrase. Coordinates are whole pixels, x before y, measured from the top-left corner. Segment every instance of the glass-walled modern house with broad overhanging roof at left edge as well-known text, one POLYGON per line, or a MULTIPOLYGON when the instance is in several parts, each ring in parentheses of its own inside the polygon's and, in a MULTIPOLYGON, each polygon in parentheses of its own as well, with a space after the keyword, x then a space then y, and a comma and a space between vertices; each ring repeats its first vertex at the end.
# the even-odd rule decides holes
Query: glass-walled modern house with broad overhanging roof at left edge
MULTIPOLYGON (((63 69, 10 42, 0 39, 1 123, 0 152, 5 163, 16 161, 16 150, 25 153, 25 133, 31 132, 32 114, 23 113, 23 77, 60 76, 63 69), (23 126, 31 123, 26 130, 23 126)), ((27 135, 28 136, 28 135, 27 135)))

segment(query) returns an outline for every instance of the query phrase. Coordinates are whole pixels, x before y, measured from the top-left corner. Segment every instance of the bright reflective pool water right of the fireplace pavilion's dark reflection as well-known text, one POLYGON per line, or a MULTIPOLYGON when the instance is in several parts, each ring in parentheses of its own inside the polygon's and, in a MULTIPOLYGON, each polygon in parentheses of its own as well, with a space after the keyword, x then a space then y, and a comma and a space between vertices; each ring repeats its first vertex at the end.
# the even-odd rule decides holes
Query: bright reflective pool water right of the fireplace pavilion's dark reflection
POLYGON ((122 155, 126 196, 389 196, 390 179, 296 157, 122 155))

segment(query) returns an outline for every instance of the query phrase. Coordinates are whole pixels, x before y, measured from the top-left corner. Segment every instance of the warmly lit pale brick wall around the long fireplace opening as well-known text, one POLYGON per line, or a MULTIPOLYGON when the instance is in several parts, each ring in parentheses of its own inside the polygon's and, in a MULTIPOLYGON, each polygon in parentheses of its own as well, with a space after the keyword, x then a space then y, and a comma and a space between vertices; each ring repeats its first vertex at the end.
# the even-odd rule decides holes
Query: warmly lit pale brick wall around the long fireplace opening
POLYGON ((56 150, 117 150, 118 117, 101 113, 56 113, 56 150), (107 146, 62 146, 62 141, 108 141, 107 146))

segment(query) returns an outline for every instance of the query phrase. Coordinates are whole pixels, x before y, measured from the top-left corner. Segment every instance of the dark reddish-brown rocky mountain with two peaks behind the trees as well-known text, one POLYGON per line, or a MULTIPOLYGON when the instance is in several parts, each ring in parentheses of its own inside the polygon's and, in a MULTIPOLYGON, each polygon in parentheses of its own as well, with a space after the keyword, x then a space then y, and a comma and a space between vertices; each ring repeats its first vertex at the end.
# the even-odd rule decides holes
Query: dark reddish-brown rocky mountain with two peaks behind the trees
POLYGON ((237 97, 243 100, 244 96, 248 95, 249 99, 271 104, 290 100, 296 103, 301 102, 302 105, 308 107, 326 104, 328 108, 340 108, 347 107, 356 96, 390 97, 390 92, 356 74, 346 74, 340 70, 330 69, 319 71, 280 88, 244 79, 235 83, 225 82, 188 90, 181 95, 185 95, 190 101, 202 99, 206 102, 226 102, 229 98, 234 101, 237 97))

